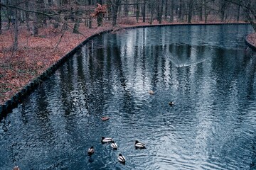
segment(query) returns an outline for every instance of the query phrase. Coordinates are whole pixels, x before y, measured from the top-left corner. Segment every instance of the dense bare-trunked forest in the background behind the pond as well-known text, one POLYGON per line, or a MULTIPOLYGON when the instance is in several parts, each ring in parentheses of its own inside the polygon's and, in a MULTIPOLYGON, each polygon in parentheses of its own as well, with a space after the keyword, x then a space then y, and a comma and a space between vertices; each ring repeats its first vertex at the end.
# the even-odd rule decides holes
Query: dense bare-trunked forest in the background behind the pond
POLYGON ((71 26, 78 33, 81 23, 91 27, 92 18, 97 18, 98 26, 103 21, 116 26, 122 18, 148 23, 242 21, 256 30, 255 0, 1 0, 0 11, 1 31, 11 24, 17 31, 23 24, 33 35, 49 24, 63 29, 71 26))

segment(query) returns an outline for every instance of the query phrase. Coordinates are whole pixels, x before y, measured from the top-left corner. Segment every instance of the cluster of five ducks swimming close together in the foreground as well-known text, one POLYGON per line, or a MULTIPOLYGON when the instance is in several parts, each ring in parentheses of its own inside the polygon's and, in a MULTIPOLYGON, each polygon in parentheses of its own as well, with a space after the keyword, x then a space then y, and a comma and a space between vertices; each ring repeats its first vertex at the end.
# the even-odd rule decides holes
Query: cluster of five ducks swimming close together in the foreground
MULTIPOLYGON (((102 137, 102 140, 101 140, 102 144, 105 144, 105 143, 111 143, 110 146, 113 148, 113 149, 117 149, 117 143, 114 142, 113 138, 112 137, 102 137)), ((135 144, 134 144, 134 147, 136 149, 146 149, 146 145, 142 142, 139 142, 138 140, 135 140, 135 144)), ((92 154, 94 154, 95 152, 95 149, 94 147, 90 147, 88 149, 88 155, 91 156, 92 154)), ((124 155, 122 154, 119 154, 118 157, 117 157, 118 161, 121 162, 121 163, 125 163, 126 159, 124 157, 124 155)))

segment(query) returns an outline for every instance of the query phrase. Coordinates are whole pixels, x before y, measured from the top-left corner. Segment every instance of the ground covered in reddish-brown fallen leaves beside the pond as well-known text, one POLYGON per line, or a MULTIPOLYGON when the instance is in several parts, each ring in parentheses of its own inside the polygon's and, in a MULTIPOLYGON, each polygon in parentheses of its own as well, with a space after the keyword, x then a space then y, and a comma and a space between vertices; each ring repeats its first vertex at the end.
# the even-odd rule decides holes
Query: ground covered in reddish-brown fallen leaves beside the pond
MULTIPOLYGON (((159 25, 156 22, 153 24, 159 25)), ((118 26, 115 28, 112 28, 111 23, 107 22, 104 22, 102 27, 97 27, 94 22, 92 28, 87 28, 81 23, 80 34, 73 33, 71 28, 63 33, 60 28, 48 26, 40 28, 37 36, 31 35, 31 32, 21 27, 18 30, 18 50, 16 52, 11 50, 14 42, 13 28, 2 30, 0 35, 0 105, 86 38, 103 30, 119 30, 131 26, 149 26, 149 23, 137 23, 124 19, 118 22, 118 26)), ((247 39, 256 46, 256 33, 247 36, 247 39)))

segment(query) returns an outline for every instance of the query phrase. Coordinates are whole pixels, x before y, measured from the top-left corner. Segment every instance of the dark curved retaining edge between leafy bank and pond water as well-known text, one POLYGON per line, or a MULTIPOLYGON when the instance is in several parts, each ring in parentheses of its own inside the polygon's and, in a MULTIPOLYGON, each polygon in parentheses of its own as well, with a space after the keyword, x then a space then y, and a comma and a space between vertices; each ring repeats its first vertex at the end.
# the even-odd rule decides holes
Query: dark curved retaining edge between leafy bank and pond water
MULTIPOLYGON (((110 33, 112 31, 118 31, 118 30, 129 30, 129 29, 134 29, 134 28, 146 28, 146 27, 162 27, 162 26, 195 26, 195 25, 223 25, 223 24, 229 24, 229 25, 234 25, 234 24, 248 24, 248 23, 197 23, 197 24, 159 24, 159 25, 149 25, 149 26, 132 26, 132 27, 124 27, 124 28, 119 28, 117 30, 114 29, 110 29, 110 30, 104 30, 100 33, 95 33, 94 35, 91 35, 89 38, 86 38, 83 42, 81 42, 77 47, 75 47, 73 50, 71 50, 70 52, 68 52, 66 55, 64 55, 63 57, 60 58, 60 60, 58 60, 57 62, 55 62, 55 64, 53 64, 51 67, 49 67, 48 69, 46 69, 45 72, 43 72, 41 75, 39 75, 38 77, 36 77, 36 79, 33 79, 32 81, 30 81, 26 86, 23 87, 23 89, 21 89, 21 91, 18 91, 17 94, 15 94, 14 96, 12 96, 8 101, 6 101, 3 105, 0 105, 0 120, 1 118, 5 117, 7 115, 7 113, 10 113, 11 110, 13 108, 16 108, 18 106, 18 103, 21 103, 22 98, 24 98, 25 96, 27 96, 28 94, 31 94, 44 80, 46 80, 50 74, 53 74, 53 72, 55 72, 58 67, 60 67, 61 64, 63 64, 64 62, 66 62, 70 57, 72 57, 75 52, 77 52, 80 47, 82 47, 83 45, 85 45, 86 42, 88 42, 89 40, 91 40, 92 38, 94 38, 97 35, 101 35, 103 33, 110 33)), ((245 42, 247 43, 247 45, 249 45, 252 48, 255 48, 253 45, 251 45, 249 42, 247 42, 247 40, 245 40, 245 42)), ((256 48, 255 48, 256 50, 256 48)))

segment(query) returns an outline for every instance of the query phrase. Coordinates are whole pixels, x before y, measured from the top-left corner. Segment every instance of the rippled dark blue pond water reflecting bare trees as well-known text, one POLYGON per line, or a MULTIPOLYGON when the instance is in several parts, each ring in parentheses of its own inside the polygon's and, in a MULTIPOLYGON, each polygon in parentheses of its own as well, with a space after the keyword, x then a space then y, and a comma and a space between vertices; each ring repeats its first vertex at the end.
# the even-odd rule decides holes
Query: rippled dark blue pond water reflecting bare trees
POLYGON ((164 26, 92 38, 1 120, 0 169, 250 169, 248 33, 250 25, 164 26))

